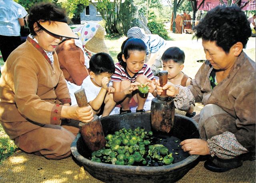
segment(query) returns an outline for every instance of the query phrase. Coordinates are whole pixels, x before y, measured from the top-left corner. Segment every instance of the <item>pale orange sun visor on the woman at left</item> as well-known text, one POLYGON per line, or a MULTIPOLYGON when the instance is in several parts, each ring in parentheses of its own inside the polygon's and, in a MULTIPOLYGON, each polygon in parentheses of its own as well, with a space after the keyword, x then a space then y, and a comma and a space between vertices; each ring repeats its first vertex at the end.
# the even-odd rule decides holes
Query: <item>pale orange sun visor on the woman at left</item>
POLYGON ((65 22, 58 22, 58 21, 46 21, 37 22, 38 26, 45 30, 46 32, 54 35, 60 36, 64 38, 73 38, 78 39, 78 36, 74 34, 72 29, 66 24, 65 22))

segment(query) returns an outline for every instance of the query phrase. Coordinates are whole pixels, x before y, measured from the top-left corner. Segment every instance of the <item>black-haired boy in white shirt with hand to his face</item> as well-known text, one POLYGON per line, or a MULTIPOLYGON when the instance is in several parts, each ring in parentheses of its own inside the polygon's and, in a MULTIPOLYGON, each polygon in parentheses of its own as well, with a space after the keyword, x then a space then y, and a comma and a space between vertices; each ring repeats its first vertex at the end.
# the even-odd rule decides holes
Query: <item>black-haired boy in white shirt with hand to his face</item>
POLYGON ((116 102, 113 99, 115 89, 109 86, 110 78, 115 72, 114 61, 106 53, 98 53, 90 59, 90 75, 87 76, 83 83, 87 101, 92 107, 94 114, 101 111, 103 102, 105 103, 102 117, 110 114, 115 107, 116 102))

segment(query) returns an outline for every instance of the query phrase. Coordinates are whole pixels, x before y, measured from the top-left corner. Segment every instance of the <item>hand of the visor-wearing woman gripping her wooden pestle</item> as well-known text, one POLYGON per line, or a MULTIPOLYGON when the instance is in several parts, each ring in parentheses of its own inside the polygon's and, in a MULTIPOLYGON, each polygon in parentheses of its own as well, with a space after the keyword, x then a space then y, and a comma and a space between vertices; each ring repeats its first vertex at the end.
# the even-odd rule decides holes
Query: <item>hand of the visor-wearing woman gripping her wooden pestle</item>
POLYGON ((72 119, 81 121, 83 123, 89 123, 93 119, 93 111, 92 107, 90 105, 86 107, 78 107, 78 105, 73 105, 71 107, 74 107, 74 116, 72 119))

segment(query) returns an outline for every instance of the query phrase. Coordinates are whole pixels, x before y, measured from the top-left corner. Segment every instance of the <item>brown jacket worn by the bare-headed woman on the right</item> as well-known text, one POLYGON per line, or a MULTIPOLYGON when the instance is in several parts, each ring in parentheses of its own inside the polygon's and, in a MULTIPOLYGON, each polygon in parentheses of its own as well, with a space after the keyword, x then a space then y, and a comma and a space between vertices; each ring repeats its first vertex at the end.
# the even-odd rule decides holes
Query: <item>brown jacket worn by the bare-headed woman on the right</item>
MULTIPOLYGON (((198 70, 192 85, 188 86, 196 102, 206 105, 216 104, 236 118, 234 133, 238 142, 248 151, 255 150, 256 123, 256 79, 255 62, 244 52, 237 58, 230 74, 214 89, 211 89, 209 76, 212 66, 207 60, 198 70)), ((222 116, 219 116, 220 120, 222 116)))

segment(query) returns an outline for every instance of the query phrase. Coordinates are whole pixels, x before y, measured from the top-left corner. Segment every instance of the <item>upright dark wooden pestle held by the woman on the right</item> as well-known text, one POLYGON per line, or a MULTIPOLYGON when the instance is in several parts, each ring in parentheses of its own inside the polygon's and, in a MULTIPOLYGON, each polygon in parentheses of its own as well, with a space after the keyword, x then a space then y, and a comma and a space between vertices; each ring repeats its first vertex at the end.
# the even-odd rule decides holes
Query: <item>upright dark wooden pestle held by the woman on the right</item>
MULTIPOLYGON (((160 86, 163 87, 168 80, 168 71, 159 72, 160 86)), ((151 102, 151 125, 156 131, 169 133, 174 125, 175 106, 172 97, 166 96, 166 90, 151 102)))

